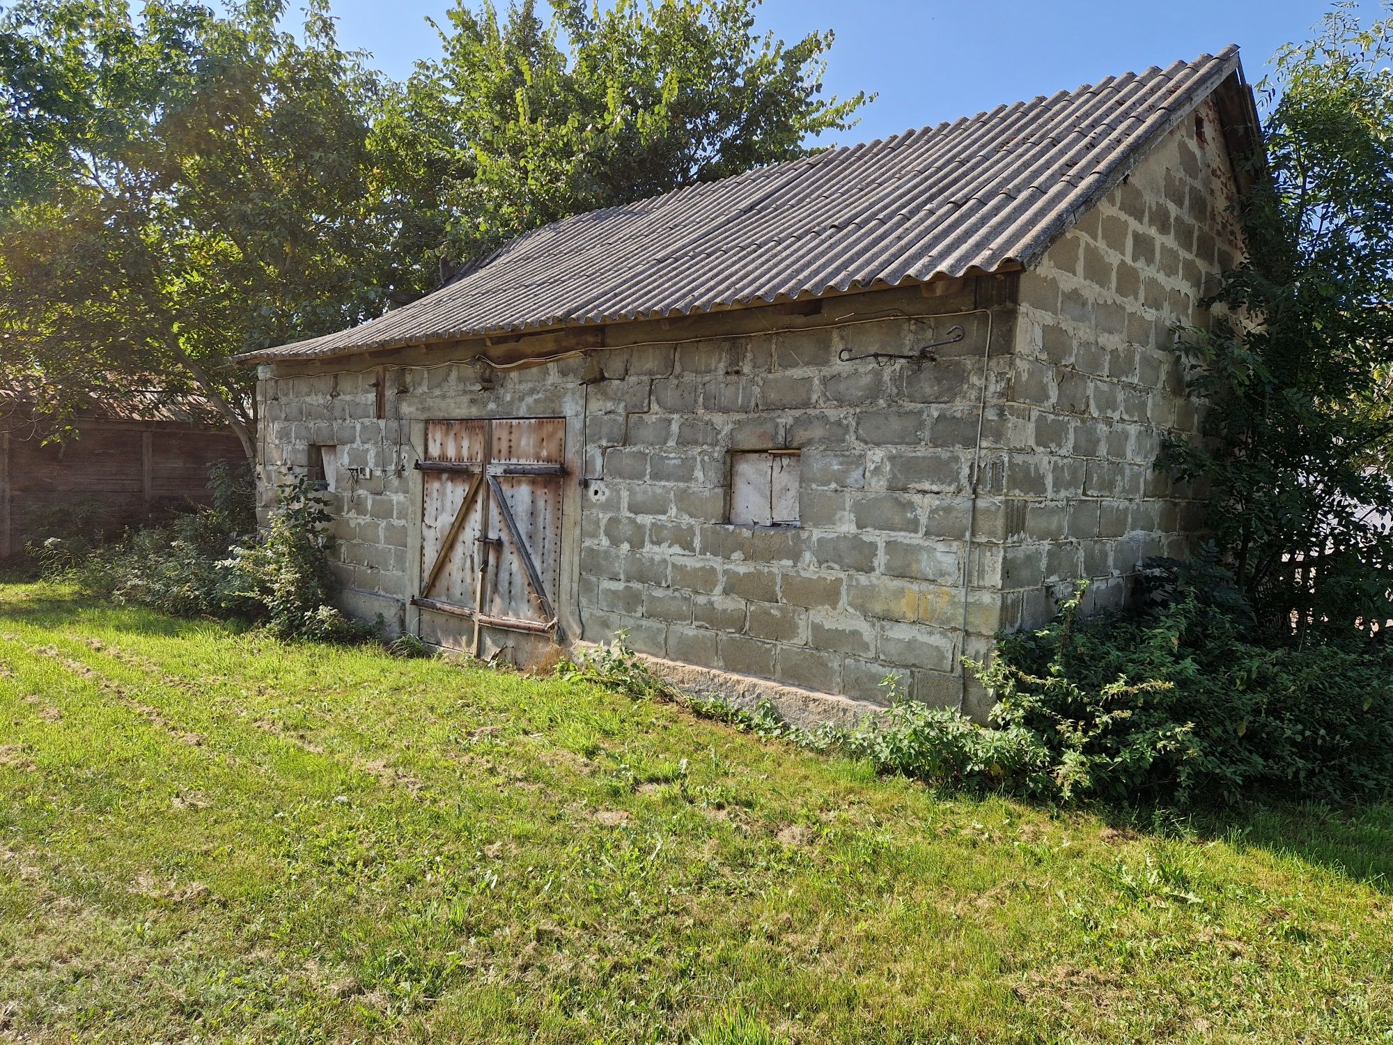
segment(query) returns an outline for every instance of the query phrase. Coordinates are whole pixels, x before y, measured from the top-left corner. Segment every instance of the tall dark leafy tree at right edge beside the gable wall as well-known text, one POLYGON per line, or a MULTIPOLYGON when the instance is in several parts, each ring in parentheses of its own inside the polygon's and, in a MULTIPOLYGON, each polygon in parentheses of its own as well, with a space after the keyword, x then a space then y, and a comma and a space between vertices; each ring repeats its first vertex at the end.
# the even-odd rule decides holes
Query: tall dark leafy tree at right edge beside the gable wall
POLYGON ((1270 633, 1393 617, 1393 26, 1339 6, 1261 85, 1248 259, 1191 332, 1215 541, 1270 633))

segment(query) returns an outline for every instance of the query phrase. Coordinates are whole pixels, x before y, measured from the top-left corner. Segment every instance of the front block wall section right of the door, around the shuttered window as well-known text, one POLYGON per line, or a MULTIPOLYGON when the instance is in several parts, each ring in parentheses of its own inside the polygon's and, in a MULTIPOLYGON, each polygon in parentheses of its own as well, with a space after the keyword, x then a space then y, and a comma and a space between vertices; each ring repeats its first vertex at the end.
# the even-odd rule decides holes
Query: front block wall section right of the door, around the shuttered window
MULTIPOLYGON (((967 283, 855 308, 963 312, 982 294, 967 283)), ((961 699, 960 658, 985 653, 999 621, 982 578, 1000 557, 1002 500, 982 497, 963 635, 983 348, 990 329, 990 398, 1013 311, 606 351, 612 380, 586 412, 585 637, 625 630, 641 652, 859 699, 882 697, 889 674, 918 699, 961 699), (965 336, 935 362, 837 358, 912 353, 954 323, 965 336), (801 451, 795 529, 724 521, 730 453, 762 449, 801 451)), ((993 411, 989 449, 1000 433, 993 411)))

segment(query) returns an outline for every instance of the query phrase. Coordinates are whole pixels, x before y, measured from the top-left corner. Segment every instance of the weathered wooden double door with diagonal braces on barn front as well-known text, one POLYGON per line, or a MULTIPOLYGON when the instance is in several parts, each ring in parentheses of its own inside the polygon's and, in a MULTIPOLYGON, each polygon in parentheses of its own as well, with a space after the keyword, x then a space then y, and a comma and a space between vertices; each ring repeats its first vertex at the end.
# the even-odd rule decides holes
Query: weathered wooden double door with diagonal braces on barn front
POLYGON ((566 419, 430 421, 421 513, 421 591, 412 602, 481 628, 561 638, 566 419))

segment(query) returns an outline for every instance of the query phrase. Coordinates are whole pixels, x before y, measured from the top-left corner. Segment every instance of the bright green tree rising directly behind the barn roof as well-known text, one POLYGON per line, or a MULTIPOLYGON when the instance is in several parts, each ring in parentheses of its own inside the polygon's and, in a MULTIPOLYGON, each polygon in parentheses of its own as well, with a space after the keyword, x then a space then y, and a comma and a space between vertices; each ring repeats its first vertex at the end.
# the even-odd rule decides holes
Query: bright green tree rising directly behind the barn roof
POLYGON ((759 0, 457 0, 444 56, 384 107, 375 146, 400 176, 404 251, 429 281, 574 213, 809 152, 866 95, 823 98, 830 32, 754 29, 759 0))

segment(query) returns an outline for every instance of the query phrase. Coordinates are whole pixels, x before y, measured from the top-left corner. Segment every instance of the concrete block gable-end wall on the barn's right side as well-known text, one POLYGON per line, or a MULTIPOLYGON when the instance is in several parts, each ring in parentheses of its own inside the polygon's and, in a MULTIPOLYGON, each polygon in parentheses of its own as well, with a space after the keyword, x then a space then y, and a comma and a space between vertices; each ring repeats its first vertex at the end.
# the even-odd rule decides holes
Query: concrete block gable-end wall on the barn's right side
POLYGON ((1021 274, 1006 627, 1042 623, 1061 582, 1081 577, 1092 580, 1087 609, 1116 606, 1141 559, 1181 556, 1199 531, 1192 492, 1153 463, 1165 433, 1198 431, 1174 327, 1208 323, 1199 302, 1241 255, 1234 194, 1206 102, 1021 274))

